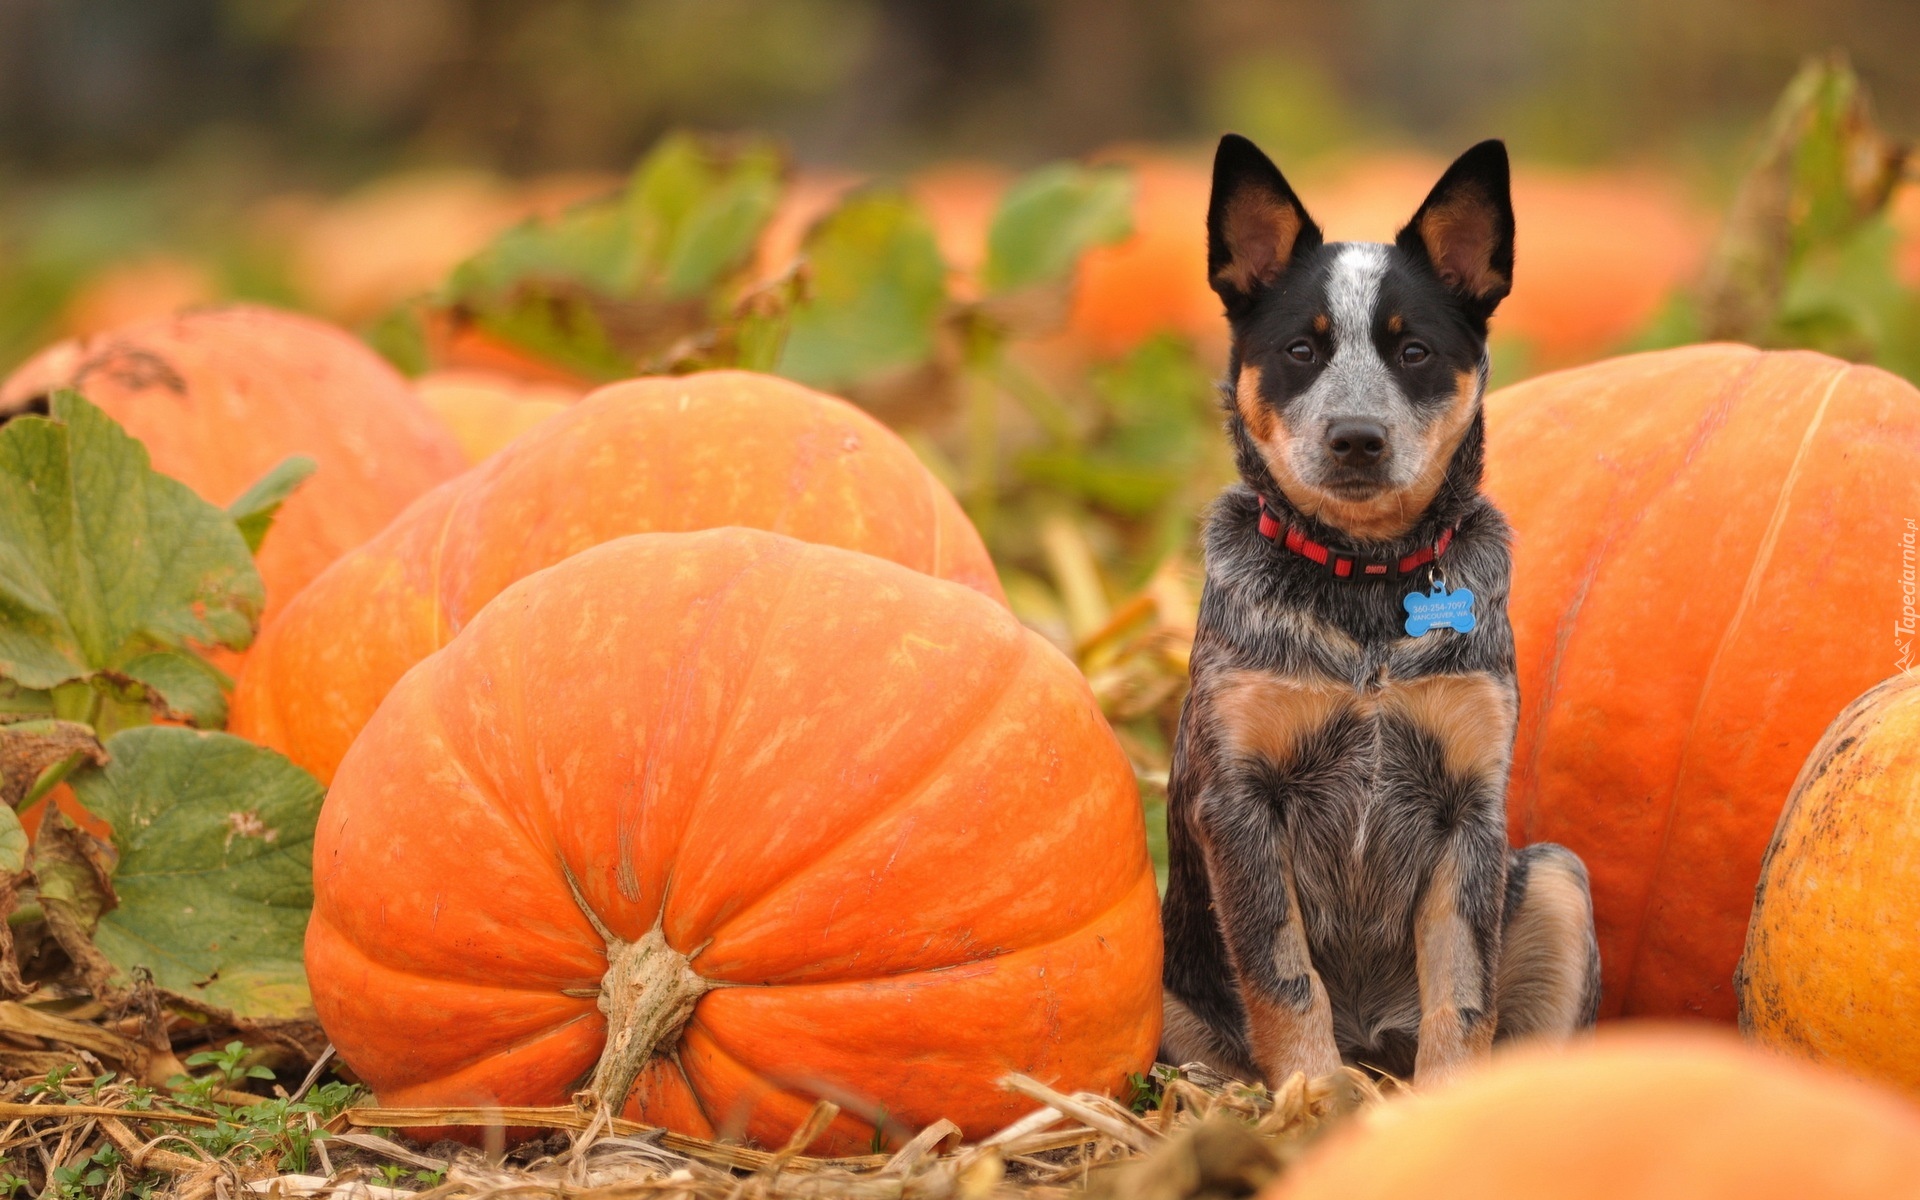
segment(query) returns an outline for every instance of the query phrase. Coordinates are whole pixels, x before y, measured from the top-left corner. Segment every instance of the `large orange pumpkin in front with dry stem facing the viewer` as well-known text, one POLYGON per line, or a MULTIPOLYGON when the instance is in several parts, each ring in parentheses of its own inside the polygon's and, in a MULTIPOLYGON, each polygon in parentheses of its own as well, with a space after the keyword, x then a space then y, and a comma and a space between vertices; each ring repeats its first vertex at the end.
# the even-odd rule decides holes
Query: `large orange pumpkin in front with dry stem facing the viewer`
POLYGON ((758 530, 503 591, 353 743, 313 876, 313 1002, 384 1104, 637 1073, 636 1119, 770 1146, 831 1098, 849 1152, 881 1114, 989 1133, 1031 1108, 1006 1071, 1112 1092, 1160 1035, 1133 772, 1073 664, 758 530))

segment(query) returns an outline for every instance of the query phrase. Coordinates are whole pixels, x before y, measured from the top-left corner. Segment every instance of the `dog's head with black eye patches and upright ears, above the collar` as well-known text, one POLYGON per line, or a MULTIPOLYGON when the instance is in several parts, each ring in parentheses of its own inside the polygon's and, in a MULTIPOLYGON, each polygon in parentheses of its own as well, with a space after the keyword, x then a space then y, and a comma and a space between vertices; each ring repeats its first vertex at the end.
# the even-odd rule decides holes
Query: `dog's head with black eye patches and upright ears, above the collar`
POLYGON ((1507 150, 1463 154, 1388 246, 1325 242, 1273 161, 1227 134, 1208 276, 1233 326, 1248 482, 1354 538, 1396 538, 1478 438, 1486 321, 1513 286, 1507 150))

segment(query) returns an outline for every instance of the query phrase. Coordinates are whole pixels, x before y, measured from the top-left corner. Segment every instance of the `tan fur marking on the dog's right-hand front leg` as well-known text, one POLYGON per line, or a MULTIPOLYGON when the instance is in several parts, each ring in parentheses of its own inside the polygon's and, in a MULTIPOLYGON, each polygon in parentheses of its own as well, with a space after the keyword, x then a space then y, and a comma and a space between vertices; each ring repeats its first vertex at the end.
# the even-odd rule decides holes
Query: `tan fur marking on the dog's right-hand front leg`
POLYGON ((1438 1083, 1486 1058, 1494 1044, 1494 1006, 1473 929, 1459 912, 1459 864, 1442 854, 1413 916, 1413 954, 1421 981, 1419 1083, 1438 1083))

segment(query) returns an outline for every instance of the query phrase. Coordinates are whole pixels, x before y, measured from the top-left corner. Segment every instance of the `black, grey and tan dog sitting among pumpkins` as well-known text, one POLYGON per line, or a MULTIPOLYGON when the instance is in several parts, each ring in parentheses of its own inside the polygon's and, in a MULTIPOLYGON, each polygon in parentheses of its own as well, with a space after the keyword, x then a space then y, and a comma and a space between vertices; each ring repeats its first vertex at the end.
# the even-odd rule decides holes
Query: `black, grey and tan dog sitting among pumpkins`
POLYGON ((1463 154, 1392 244, 1331 244, 1227 134, 1208 275, 1240 482, 1206 522, 1167 781, 1162 1058, 1425 1085, 1592 1025, 1586 868, 1507 847, 1509 526, 1480 493, 1505 146, 1463 154))

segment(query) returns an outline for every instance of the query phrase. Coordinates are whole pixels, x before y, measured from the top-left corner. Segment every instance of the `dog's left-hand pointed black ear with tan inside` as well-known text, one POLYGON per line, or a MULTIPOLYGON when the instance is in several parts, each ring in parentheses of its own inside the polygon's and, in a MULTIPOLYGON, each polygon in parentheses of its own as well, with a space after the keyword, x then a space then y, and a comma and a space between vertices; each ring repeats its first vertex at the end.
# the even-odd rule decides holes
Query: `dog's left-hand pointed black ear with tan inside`
POLYGON ((1240 134, 1223 136, 1206 211, 1206 273, 1227 313, 1246 311, 1294 257, 1319 244, 1319 227, 1273 159, 1240 134))

